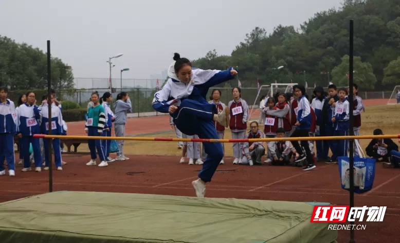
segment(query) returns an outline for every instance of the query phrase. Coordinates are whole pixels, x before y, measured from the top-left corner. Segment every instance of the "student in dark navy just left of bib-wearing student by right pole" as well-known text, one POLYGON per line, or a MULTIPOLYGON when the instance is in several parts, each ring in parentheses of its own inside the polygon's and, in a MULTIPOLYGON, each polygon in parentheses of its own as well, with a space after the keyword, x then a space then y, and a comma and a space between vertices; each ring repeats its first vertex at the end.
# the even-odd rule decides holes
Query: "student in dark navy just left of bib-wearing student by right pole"
MULTIPOLYGON (((335 125, 332 122, 332 118, 334 117, 336 102, 339 100, 335 84, 331 84, 328 86, 328 95, 329 97, 326 98, 322 107, 322 122, 324 124, 324 130, 321 130, 321 136, 333 136, 335 134, 335 125)), ((337 141, 329 140, 328 146, 331 149, 332 157, 329 161, 326 161, 325 163, 337 163, 337 141)))

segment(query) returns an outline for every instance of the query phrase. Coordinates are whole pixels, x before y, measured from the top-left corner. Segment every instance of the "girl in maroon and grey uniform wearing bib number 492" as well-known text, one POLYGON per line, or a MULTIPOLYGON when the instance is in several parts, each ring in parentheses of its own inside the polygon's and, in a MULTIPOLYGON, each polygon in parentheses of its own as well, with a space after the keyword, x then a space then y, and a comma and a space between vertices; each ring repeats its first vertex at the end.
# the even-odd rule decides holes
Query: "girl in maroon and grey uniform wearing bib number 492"
MULTIPOLYGON (((235 87, 232 89, 233 100, 229 101, 229 128, 232 133, 232 139, 242 139, 246 136, 247 121, 249 119, 249 107, 246 100, 241 98, 241 89, 235 87)), ((232 143, 233 164, 239 164, 242 157, 243 143, 232 143)))

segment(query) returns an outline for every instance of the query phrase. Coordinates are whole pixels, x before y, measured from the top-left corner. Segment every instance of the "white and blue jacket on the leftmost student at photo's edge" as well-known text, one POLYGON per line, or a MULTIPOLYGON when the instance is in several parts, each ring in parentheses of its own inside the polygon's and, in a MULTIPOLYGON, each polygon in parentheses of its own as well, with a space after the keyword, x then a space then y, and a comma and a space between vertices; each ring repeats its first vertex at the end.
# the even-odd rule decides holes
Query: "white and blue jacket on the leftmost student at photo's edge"
POLYGON ((17 132, 17 113, 14 102, 7 99, 6 103, 0 103, 0 133, 17 132))

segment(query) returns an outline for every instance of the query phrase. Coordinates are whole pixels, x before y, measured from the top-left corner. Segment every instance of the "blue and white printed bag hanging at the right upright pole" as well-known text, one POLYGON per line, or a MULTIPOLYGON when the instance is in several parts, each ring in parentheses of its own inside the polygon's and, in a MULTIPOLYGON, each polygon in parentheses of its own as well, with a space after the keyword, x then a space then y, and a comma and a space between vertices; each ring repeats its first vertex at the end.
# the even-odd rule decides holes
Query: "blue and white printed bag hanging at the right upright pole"
MULTIPOLYGON (((354 143, 359 147, 358 142, 354 143)), ((362 152, 359 147, 358 151, 362 152)), ((363 194, 372 189, 375 179, 375 159, 354 156, 354 193, 363 194)), ((350 190, 350 160, 349 157, 338 157, 340 184, 342 189, 350 190)))

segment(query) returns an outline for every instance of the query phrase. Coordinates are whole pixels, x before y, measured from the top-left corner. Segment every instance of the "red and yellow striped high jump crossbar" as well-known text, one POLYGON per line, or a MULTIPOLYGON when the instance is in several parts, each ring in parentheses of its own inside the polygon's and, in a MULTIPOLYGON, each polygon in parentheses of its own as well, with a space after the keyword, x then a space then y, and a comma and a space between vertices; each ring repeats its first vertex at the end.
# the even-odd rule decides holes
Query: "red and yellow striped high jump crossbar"
POLYGON ((78 140, 126 140, 126 141, 163 141, 163 142, 205 142, 205 143, 246 143, 274 141, 316 141, 316 140, 359 140, 379 138, 399 138, 394 135, 362 135, 362 136, 314 136, 314 137, 273 137, 273 138, 244 138, 244 139, 202 139, 202 138, 168 138, 168 137, 104 137, 104 136, 72 136, 34 134, 35 138, 62 138, 78 140))

